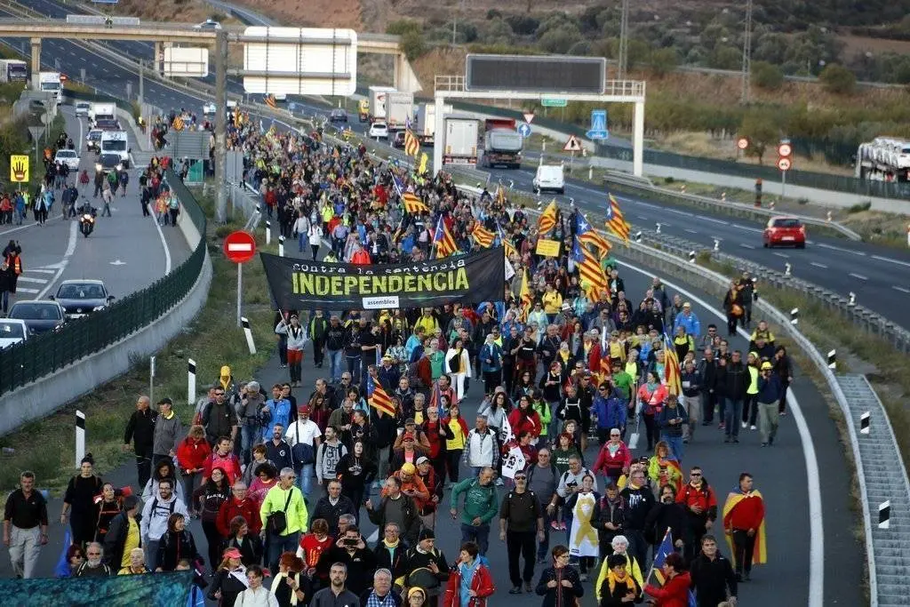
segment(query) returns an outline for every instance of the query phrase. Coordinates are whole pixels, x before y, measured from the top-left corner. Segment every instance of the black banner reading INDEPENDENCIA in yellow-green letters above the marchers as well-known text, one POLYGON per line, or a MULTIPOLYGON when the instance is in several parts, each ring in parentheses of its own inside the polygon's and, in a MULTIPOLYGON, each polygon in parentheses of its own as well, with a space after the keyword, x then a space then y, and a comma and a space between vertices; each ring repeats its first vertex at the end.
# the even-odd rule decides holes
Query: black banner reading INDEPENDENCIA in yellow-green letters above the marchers
POLYGON ((281 309, 321 304, 329 309, 395 309, 451 302, 498 301, 505 290, 502 248, 421 263, 359 266, 259 257, 281 309))

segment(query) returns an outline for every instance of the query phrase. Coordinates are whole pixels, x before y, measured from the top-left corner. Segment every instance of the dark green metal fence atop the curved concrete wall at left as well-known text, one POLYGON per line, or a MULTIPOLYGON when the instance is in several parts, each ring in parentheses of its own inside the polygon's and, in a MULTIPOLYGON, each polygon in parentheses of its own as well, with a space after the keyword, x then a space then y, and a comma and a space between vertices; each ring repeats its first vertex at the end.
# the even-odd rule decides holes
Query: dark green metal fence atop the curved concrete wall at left
MULTIPOLYGON (((183 210, 204 237, 206 216, 202 207, 173 172, 168 171, 167 177, 183 210)), ((106 309, 69 321, 62 329, 0 350, 0 394, 63 369, 161 318, 196 284, 205 258, 206 240, 201 238, 186 261, 147 288, 117 300, 106 309)))

